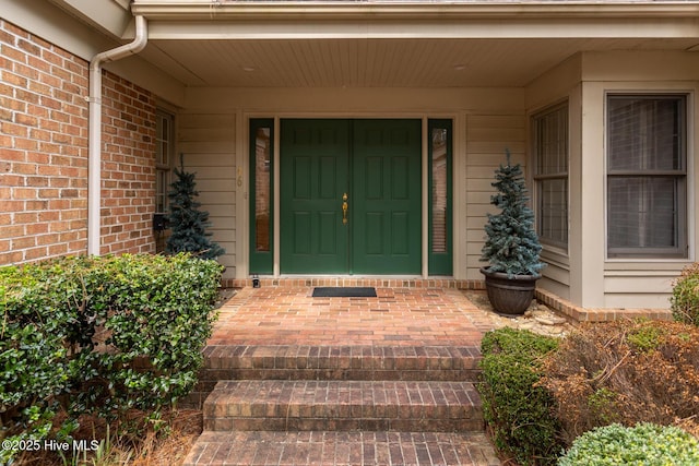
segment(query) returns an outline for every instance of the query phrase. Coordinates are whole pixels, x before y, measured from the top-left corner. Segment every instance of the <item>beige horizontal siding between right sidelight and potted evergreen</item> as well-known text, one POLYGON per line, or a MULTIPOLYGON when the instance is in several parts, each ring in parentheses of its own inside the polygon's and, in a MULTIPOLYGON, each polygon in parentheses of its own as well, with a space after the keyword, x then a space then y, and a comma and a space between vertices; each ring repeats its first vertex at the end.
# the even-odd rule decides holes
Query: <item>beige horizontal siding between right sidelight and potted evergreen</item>
POLYGON ((495 188, 495 170, 507 160, 510 150, 513 163, 524 166, 525 119, 521 113, 469 115, 466 117, 466 267, 469 279, 483 279, 478 270, 481 249, 485 242, 486 214, 496 213, 490 205, 495 188))

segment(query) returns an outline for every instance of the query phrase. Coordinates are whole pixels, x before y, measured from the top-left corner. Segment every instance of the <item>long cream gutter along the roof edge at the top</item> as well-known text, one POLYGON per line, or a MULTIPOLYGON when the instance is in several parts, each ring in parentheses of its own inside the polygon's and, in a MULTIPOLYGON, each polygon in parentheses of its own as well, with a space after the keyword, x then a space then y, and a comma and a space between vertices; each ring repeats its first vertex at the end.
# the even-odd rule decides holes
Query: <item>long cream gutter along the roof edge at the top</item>
POLYGON ((134 0, 134 14, 150 20, 298 21, 298 20, 552 20, 687 17, 699 13, 694 2, 654 1, 235 1, 134 0))

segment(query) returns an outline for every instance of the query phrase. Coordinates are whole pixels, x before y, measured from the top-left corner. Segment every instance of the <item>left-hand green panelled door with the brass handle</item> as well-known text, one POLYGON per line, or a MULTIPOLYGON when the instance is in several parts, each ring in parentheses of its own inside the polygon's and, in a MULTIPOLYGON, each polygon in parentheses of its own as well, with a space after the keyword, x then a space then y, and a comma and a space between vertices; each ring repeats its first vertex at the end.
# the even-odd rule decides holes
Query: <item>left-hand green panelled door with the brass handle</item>
POLYGON ((287 274, 347 273, 347 120, 282 120, 280 270, 287 274))

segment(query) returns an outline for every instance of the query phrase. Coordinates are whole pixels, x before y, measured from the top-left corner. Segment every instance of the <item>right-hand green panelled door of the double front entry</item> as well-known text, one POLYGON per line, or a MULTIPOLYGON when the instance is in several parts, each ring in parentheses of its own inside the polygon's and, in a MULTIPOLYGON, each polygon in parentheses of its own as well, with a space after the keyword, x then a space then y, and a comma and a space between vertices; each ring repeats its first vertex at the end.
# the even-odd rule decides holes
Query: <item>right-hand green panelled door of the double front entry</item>
POLYGON ((420 273, 420 127, 354 121, 353 273, 420 273))

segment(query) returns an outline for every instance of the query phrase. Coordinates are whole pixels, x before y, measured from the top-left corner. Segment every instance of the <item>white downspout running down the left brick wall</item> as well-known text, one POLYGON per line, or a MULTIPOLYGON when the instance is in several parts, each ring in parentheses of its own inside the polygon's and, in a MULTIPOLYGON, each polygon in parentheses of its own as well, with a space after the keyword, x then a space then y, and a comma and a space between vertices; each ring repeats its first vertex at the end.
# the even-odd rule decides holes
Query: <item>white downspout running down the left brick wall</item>
POLYGON ((135 38, 90 61, 87 146, 87 254, 99 255, 102 208, 102 64, 139 53, 149 41, 145 17, 135 16, 135 38))

